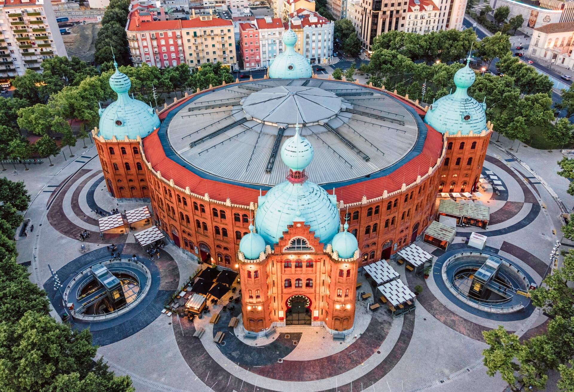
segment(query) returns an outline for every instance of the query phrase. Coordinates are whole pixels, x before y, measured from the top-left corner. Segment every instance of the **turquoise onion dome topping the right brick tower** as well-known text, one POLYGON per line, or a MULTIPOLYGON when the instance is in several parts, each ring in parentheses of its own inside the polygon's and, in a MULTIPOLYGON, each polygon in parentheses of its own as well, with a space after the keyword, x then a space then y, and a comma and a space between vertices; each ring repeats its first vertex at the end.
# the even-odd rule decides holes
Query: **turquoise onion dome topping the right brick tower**
POLYGON ((456 91, 433 102, 425 115, 425 123, 440 133, 463 135, 479 134, 486 129, 486 104, 468 96, 468 88, 476 80, 475 72, 469 67, 456 71, 454 81, 456 91))

